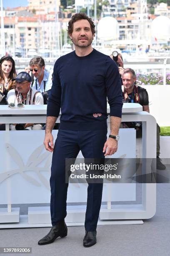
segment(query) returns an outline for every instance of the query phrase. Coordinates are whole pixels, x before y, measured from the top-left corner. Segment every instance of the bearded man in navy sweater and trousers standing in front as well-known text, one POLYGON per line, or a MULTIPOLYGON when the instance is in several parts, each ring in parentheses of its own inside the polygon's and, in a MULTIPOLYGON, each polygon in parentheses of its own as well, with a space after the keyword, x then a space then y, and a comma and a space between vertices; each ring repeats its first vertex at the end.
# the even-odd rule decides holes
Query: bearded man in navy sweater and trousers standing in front
MULTIPOLYGON (((54 65, 51 94, 47 104, 44 145, 53 152, 51 166, 50 232, 39 245, 67 236, 65 224, 68 183, 65 182, 65 159, 104 159, 117 151, 122 115, 122 90, 115 61, 92 48, 95 25, 85 13, 72 16, 68 34, 75 51, 61 56, 54 65), (111 133, 107 139, 107 98, 110 105, 111 133), (60 117, 55 146, 52 128, 60 117)), ((102 182, 88 183, 85 237, 83 246, 96 243, 96 228, 102 200, 102 182)))

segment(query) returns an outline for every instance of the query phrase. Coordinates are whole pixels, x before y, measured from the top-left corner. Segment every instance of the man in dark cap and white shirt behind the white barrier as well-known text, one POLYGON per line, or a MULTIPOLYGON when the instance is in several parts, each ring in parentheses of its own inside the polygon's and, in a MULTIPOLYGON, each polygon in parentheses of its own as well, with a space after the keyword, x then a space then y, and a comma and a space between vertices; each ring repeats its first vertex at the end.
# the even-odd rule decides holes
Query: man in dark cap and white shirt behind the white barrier
MULTIPOLYGON (((14 103, 17 106, 18 103, 25 105, 43 105, 44 100, 41 92, 30 87, 31 77, 27 72, 20 72, 17 77, 12 79, 16 81, 16 88, 10 90, 7 93, 8 104, 14 103)), ((26 123, 23 125, 10 125, 10 130, 42 130, 41 124, 26 123)))

